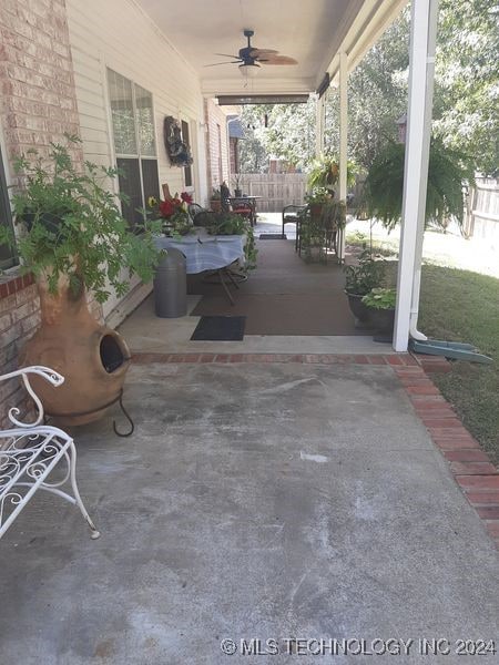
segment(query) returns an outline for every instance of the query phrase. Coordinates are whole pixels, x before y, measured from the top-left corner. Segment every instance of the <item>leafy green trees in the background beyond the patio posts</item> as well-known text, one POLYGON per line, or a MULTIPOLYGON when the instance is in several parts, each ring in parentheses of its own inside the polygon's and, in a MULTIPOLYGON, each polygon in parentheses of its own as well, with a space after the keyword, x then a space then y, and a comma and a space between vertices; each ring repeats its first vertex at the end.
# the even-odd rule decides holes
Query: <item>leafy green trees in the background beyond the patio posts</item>
MULTIPOLYGON (((467 153, 479 171, 499 171, 499 10, 490 0, 441 0, 434 94, 434 134, 467 153)), ((368 170, 397 136, 407 110, 410 16, 405 9, 352 72, 348 81, 348 151, 368 170)), ((328 91, 325 147, 339 150, 338 94, 328 91)), ((306 166, 315 154, 315 102, 252 106, 259 161, 268 155, 306 166), (264 157, 264 154, 266 155, 264 157)), ((246 112, 246 111, 245 111, 246 112)), ((249 144, 247 145, 249 147, 249 144)))

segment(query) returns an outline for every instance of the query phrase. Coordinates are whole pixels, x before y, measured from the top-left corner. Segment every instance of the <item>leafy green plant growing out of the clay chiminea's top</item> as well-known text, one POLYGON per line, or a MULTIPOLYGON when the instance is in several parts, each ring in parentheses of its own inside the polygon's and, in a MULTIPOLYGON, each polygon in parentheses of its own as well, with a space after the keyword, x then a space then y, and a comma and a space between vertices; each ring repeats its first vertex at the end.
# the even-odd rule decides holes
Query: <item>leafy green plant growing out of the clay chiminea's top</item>
POLYGON ((59 278, 67 276, 78 295, 85 287, 99 303, 129 289, 123 268, 151 282, 160 252, 154 247, 154 224, 144 222, 130 231, 114 194, 103 182, 114 178, 115 168, 91 162, 75 165, 70 155, 80 139, 67 135, 68 145, 51 144, 48 158, 29 151, 14 161, 22 188, 12 196, 19 233, 0 227, 0 243, 16 249, 21 269, 48 279, 57 293, 59 278))

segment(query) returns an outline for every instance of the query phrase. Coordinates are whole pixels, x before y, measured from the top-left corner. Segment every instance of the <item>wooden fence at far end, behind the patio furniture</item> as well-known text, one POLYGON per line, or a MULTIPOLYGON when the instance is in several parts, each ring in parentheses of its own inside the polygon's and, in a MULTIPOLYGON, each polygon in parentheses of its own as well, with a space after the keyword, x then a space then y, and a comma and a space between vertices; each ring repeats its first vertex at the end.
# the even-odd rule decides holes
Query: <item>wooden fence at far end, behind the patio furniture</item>
POLYGON ((262 213, 281 213, 285 205, 302 205, 307 191, 305 173, 242 173, 238 177, 244 194, 262 197, 257 204, 262 213))

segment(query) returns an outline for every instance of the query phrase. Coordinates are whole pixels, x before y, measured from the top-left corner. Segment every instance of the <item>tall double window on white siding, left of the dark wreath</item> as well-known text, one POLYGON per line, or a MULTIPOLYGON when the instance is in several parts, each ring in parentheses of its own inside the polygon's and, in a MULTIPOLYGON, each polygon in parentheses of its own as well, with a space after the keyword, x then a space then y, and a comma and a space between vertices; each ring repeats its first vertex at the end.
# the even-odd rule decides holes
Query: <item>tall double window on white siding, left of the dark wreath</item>
POLYGON ((150 196, 160 198, 152 94, 110 69, 108 84, 116 166, 122 172, 118 182, 130 200, 122 203, 122 214, 133 227, 142 222, 138 208, 145 208, 150 196))

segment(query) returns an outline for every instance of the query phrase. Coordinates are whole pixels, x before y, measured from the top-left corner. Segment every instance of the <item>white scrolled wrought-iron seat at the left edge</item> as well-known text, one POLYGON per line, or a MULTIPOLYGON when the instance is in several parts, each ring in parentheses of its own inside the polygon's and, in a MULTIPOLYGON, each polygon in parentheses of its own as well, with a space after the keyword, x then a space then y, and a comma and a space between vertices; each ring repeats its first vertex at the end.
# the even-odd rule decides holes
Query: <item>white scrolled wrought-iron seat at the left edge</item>
POLYGON ((63 430, 43 423, 43 406, 33 391, 29 375, 43 377, 52 386, 64 381, 57 371, 48 367, 24 367, 0 376, 0 381, 20 377, 34 400, 38 416, 32 423, 17 419, 20 411, 9 410, 12 429, 0 430, 0 538, 18 518, 19 513, 38 490, 45 490, 78 505, 91 529, 91 538, 99 538, 77 485, 77 449, 73 439, 63 430), (65 466, 62 478, 50 479, 52 471, 65 466), (61 488, 71 484, 72 494, 61 488))

